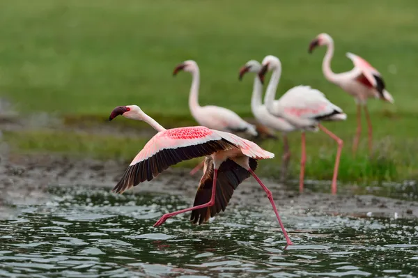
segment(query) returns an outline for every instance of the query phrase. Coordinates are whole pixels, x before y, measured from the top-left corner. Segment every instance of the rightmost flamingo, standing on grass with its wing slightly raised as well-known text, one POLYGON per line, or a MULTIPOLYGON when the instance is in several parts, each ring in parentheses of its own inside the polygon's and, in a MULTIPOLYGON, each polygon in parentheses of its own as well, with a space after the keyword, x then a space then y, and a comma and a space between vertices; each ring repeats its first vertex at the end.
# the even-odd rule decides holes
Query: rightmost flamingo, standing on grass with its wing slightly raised
POLYGON ((385 82, 382 79, 380 72, 373 68, 369 62, 362 59, 353 53, 347 53, 346 56, 353 61, 354 68, 348 72, 334 73, 331 69, 331 59, 334 55, 334 40, 327 33, 320 33, 309 44, 309 53, 320 45, 327 46, 327 53, 323 59, 323 73, 325 78, 337 86, 340 86, 344 91, 353 95, 357 104, 357 130, 355 132, 355 139, 353 141, 353 153, 357 151, 360 134, 362 132, 362 107, 366 116, 369 135, 369 152, 373 148, 372 138, 373 130, 371 127, 371 120, 369 111, 367 109, 368 98, 380 98, 390 103, 394 103, 392 95, 386 91, 385 82))

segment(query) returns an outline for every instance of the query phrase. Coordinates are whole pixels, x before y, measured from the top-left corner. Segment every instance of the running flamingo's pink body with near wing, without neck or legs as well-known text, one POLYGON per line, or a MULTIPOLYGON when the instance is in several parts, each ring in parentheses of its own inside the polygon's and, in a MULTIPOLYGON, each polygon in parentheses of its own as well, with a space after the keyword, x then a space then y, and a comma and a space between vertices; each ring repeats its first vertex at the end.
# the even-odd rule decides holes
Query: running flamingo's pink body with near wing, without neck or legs
POLYGON ((258 160, 274 157, 257 144, 228 132, 203 126, 162 130, 134 157, 114 191, 124 192, 145 180, 152 180, 173 164, 206 155, 220 163, 240 155, 258 160))

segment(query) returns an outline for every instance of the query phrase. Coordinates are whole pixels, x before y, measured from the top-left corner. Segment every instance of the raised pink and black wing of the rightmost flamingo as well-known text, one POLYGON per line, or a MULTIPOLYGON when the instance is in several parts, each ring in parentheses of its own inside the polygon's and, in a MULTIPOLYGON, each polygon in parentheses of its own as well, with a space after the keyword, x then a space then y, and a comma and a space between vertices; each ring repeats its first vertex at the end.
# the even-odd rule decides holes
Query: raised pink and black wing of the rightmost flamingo
POLYGON ((357 82, 362 83, 364 86, 369 88, 376 88, 383 97, 383 90, 385 89, 385 82, 382 79, 380 72, 373 68, 373 66, 362 57, 357 56, 353 53, 348 52, 346 56, 353 61, 355 68, 359 70, 359 74, 355 79, 357 82))

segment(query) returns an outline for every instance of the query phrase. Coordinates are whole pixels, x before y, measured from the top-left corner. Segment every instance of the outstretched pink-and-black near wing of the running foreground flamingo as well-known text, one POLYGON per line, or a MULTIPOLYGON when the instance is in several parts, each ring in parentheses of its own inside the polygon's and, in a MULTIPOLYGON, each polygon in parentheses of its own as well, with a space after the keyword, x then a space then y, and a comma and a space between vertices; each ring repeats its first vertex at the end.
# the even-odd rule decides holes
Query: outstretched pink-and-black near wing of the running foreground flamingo
POLYGON ((235 146, 230 141, 205 127, 173 128, 158 132, 134 157, 113 191, 123 193, 145 180, 152 180, 178 162, 231 148, 235 146))

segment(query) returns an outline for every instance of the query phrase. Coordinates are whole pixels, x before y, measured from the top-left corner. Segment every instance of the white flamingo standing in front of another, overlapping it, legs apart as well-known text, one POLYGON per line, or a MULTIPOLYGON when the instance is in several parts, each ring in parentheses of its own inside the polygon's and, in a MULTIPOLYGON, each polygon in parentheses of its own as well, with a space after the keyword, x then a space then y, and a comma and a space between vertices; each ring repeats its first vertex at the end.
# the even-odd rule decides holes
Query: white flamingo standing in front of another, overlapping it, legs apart
POLYGON ((303 192, 304 186, 304 167, 306 162, 305 150, 305 131, 317 131, 318 128, 323 130, 338 144, 336 158, 334 164, 334 174, 332 176, 331 191, 336 194, 336 178, 338 176, 339 160, 343 140, 334 133, 327 130, 320 121, 343 121, 347 115, 320 91, 310 86, 295 86, 289 89, 279 100, 274 100, 277 85, 281 76, 281 62, 276 56, 268 55, 263 59, 262 67, 258 76, 261 82, 264 81, 265 74, 272 70, 272 82, 270 82, 265 93, 264 103, 268 111, 274 116, 280 116, 302 130, 302 159, 300 160, 300 180, 299 189, 303 192))

